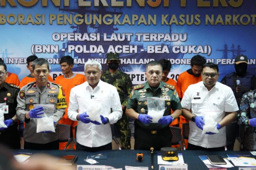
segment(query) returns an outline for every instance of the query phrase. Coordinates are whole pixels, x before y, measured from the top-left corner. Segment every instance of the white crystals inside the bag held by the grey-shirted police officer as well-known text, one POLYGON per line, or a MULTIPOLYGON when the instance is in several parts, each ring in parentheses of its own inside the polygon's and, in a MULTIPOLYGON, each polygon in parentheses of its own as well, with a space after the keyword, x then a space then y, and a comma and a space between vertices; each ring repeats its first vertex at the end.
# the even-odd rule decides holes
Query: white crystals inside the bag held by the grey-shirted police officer
POLYGON ((36 120, 37 120, 36 133, 39 133, 39 132, 42 132, 42 131, 55 132, 52 117, 42 117, 42 118, 37 118, 36 120))

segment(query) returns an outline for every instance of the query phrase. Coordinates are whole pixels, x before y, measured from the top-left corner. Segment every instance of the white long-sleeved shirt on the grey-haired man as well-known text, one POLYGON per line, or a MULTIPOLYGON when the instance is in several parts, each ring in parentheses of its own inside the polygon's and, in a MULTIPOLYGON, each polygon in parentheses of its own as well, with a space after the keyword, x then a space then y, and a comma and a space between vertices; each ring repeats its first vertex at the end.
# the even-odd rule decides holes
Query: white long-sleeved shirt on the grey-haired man
POLYGON ((110 124, 116 123, 122 117, 123 111, 119 95, 114 86, 100 80, 98 85, 92 89, 86 81, 71 89, 68 118, 77 121, 76 116, 87 111, 87 107, 92 102, 99 103, 99 107, 101 107, 100 114, 108 117, 109 123, 96 125, 78 121, 76 141, 87 147, 99 147, 112 142, 110 124), (94 97, 91 98, 91 96, 94 97), (112 113, 110 113, 110 108, 112 108, 112 113))

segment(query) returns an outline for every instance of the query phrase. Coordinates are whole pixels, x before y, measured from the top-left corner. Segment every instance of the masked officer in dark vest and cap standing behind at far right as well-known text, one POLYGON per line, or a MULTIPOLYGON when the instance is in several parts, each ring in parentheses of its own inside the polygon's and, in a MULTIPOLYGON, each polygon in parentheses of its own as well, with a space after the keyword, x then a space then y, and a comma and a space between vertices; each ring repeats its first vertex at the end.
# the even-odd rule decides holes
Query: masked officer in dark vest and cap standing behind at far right
MULTIPOLYGON (((223 77, 221 83, 229 86, 236 97, 238 106, 244 93, 256 89, 256 77, 247 72, 248 58, 245 55, 238 55, 235 58, 236 72, 229 73, 223 77)), ((233 151, 236 136, 239 132, 237 121, 233 121, 226 126, 227 150, 233 151)))

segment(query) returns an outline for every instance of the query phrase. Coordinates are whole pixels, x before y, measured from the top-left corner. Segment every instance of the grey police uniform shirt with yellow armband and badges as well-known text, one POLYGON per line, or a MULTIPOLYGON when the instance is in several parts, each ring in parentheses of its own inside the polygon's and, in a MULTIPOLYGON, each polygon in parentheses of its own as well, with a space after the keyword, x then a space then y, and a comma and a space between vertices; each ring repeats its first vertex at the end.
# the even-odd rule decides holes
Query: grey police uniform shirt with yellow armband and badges
POLYGON ((48 81, 41 92, 36 82, 28 83, 20 89, 17 102, 17 118, 25 122, 23 135, 26 142, 46 144, 59 139, 59 132, 56 130, 55 133, 36 133, 37 118, 25 119, 25 114, 34 109, 34 104, 54 104, 53 120, 57 124, 67 107, 65 93, 60 85, 48 81))

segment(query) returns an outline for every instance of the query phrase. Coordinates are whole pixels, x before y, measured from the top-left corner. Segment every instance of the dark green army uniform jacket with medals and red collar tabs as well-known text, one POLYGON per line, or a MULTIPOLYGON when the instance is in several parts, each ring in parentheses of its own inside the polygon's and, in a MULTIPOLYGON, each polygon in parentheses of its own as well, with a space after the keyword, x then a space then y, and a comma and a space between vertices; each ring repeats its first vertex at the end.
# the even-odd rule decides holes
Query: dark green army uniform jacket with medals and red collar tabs
MULTIPOLYGON (((160 81, 156 91, 149 86, 148 81, 143 84, 134 86, 133 95, 128 101, 127 109, 133 109, 140 114, 148 114, 147 97, 159 97, 164 99, 164 115, 171 115, 172 110, 181 109, 180 99, 174 86, 160 81)), ((169 125, 159 125, 156 123, 144 124, 138 119, 135 120, 136 124, 146 129, 162 129, 169 125)))

